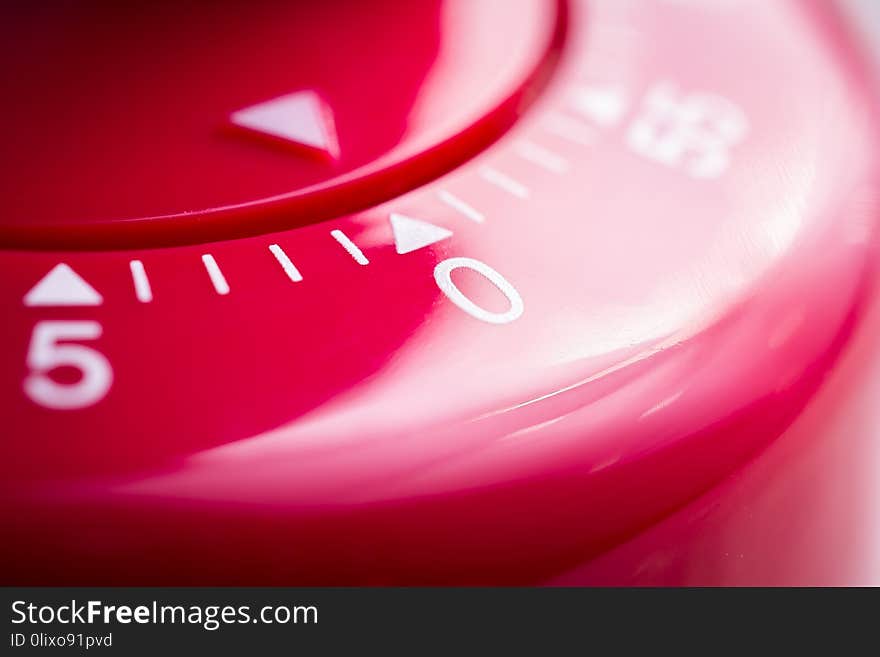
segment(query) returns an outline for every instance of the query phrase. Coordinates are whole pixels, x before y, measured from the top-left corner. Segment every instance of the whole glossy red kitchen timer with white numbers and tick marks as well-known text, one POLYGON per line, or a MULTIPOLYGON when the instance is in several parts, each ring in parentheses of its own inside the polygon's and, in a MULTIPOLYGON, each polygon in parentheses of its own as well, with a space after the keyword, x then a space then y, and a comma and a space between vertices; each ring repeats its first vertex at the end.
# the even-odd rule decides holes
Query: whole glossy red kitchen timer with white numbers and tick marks
POLYGON ((7 583, 880 577, 837 7, 10 12, 7 583))

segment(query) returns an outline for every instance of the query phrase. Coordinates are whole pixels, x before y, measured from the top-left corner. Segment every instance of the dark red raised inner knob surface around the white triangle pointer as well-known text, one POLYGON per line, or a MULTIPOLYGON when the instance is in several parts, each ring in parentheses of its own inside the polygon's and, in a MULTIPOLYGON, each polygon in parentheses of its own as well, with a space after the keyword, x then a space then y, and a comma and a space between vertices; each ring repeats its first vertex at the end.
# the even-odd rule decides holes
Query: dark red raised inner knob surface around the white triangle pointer
POLYGON ((4 5, 0 240, 143 246, 289 228, 448 171, 513 123, 552 67, 553 2, 4 5), (500 14, 504 30, 496 30, 500 14), (309 91, 341 148, 236 127, 309 91))

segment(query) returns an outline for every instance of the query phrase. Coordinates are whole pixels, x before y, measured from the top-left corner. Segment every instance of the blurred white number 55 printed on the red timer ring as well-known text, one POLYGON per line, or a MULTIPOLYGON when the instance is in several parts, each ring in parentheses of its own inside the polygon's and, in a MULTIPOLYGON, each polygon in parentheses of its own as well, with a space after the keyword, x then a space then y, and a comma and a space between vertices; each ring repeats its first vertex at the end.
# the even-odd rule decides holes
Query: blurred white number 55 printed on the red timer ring
POLYGON ((717 178, 730 164, 730 148, 749 124, 743 111, 722 96, 681 93, 671 82, 655 84, 642 114, 630 125, 630 148, 694 178, 717 178))

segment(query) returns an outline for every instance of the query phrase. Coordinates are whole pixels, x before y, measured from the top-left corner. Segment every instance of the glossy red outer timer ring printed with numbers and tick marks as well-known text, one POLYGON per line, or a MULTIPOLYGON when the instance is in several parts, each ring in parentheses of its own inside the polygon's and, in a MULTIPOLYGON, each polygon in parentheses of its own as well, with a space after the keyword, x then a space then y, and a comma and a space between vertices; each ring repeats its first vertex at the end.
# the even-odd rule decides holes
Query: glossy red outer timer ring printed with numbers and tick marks
MULTIPOLYGON (((824 3, 567 16, 511 130, 386 203, 214 243, 0 253, 7 581, 737 583, 701 543, 724 530, 690 519, 860 320, 873 95, 824 3), (60 262, 100 303, 33 303, 60 262), (87 404, 63 368, 42 372, 60 396, 33 387, 58 321, 100 325, 68 340, 112 368, 87 404), (652 570, 658 546, 675 553, 652 570)), ((736 531, 748 510, 726 504, 736 531)))

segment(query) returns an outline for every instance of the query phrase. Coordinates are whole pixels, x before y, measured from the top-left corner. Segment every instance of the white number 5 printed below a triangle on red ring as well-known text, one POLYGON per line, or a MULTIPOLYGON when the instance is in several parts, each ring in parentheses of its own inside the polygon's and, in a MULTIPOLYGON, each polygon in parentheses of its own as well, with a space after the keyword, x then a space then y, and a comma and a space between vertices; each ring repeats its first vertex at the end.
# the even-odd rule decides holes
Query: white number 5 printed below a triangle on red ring
POLYGON ((44 321, 34 327, 28 348, 24 380, 25 394, 37 404, 57 410, 85 408, 101 401, 113 383, 113 369, 107 358, 69 340, 95 340, 101 325, 87 321, 44 321), (58 383, 49 377, 57 367, 73 367, 80 378, 74 383, 58 383))

